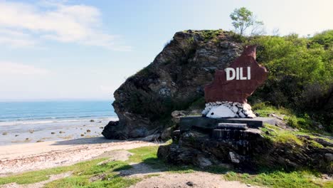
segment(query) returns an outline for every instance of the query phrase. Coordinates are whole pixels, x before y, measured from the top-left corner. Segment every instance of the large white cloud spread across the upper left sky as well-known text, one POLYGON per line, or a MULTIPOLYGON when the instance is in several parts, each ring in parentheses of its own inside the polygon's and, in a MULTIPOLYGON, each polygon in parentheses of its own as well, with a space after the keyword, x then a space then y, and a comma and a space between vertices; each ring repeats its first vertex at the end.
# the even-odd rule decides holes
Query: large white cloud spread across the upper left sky
POLYGON ((102 30, 100 11, 94 6, 51 3, 33 5, 0 1, 0 29, 10 31, 0 43, 30 46, 36 41, 54 40, 128 51, 115 43, 119 36, 102 30), (24 33, 16 35, 13 33, 24 33))

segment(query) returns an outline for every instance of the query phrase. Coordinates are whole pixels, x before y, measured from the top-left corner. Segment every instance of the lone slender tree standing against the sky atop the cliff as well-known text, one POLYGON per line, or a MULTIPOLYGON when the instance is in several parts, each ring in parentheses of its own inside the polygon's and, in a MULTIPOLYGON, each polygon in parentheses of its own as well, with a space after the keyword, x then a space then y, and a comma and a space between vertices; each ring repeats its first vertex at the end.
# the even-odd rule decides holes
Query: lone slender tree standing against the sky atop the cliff
POLYGON ((245 30, 249 27, 253 27, 251 35, 258 35, 263 33, 263 21, 256 21, 253 12, 249 11, 245 7, 240 9, 235 9, 230 14, 230 18, 233 20, 233 26, 235 27, 236 32, 240 35, 245 33, 245 30))

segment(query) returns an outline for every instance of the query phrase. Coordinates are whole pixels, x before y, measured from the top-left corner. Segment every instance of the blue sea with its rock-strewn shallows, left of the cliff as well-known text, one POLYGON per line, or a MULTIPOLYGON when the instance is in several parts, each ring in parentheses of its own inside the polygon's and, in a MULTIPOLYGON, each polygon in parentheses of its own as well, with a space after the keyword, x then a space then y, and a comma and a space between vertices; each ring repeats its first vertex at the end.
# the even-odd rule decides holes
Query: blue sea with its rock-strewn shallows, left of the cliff
POLYGON ((102 136, 110 100, 0 103, 0 145, 102 136))

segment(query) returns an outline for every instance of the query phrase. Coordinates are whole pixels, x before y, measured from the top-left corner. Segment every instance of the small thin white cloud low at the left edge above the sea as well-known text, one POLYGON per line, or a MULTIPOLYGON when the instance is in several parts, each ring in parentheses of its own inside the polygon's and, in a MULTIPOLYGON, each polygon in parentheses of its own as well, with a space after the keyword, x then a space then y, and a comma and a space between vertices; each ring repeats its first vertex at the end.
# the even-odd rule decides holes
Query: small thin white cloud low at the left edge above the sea
POLYGON ((0 61, 0 75, 46 75, 48 70, 20 63, 0 61))

